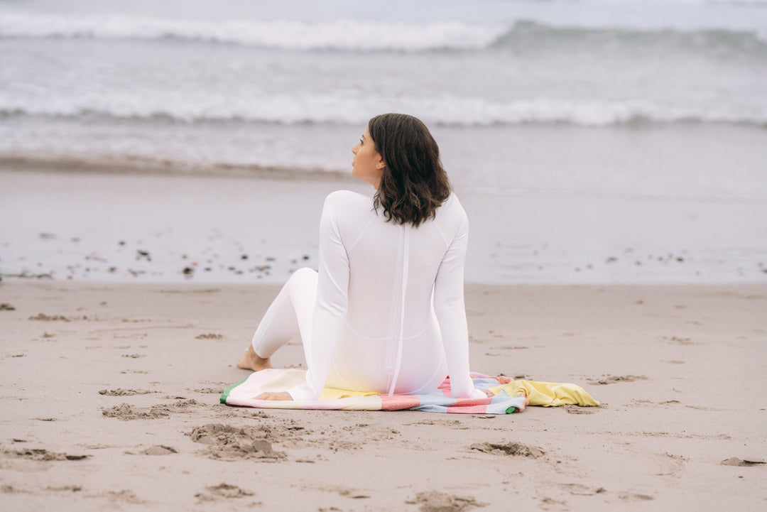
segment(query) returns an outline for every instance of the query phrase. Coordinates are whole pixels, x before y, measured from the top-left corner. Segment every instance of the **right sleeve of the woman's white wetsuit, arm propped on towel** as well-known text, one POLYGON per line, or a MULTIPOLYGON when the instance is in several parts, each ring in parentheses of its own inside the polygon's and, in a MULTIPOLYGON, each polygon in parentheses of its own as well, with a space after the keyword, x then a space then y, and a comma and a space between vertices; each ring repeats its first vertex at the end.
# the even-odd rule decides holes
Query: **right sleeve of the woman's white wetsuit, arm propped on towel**
POLYGON ((463 263, 469 243, 469 221, 461 212, 460 225, 450 242, 434 281, 434 312, 442 332, 450 389, 454 398, 485 398, 469 376, 469 329, 463 302, 463 263))

